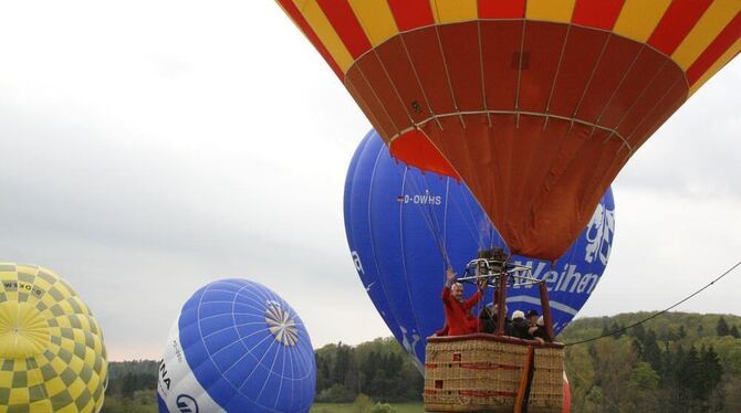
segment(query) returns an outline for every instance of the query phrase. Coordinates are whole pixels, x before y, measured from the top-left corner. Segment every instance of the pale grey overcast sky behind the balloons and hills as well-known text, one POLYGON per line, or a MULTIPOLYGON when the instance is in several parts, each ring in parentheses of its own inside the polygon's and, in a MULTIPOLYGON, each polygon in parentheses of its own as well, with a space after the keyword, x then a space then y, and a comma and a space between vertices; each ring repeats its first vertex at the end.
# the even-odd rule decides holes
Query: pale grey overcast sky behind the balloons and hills
MULTIPOLYGON (((0 6, 0 261, 64 276, 112 360, 158 358, 182 303, 241 276, 314 347, 390 332, 347 251, 370 128, 273 1, 0 6)), ((741 62, 639 151, 585 316, 660 309, 741 260, 741 62)), ((741 314, 741 269, 685 311, 741 314), (733 293, 735 292, 735 293, 733 293)))

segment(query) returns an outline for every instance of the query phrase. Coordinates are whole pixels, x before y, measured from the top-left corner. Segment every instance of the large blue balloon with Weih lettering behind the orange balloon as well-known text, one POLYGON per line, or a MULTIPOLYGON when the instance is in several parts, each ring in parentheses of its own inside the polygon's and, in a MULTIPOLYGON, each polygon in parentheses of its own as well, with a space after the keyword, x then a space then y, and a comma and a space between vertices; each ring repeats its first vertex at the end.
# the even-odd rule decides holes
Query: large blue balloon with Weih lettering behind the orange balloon
MULTIPOLYGON (((345 231, 363 285, 418 367, 424 363, 426 337, 445 322, 440 301, 445 268, 450 265, 461 274, 479 250, 505 246, 465 184, 395 161, 373 130, 347 173, 345 231)), ((513 257, 546 282, 556 333, 597 286, 614 231, 615 204, 608 189, 587 227, 555 263, 513 257)), ((541 310, 538 287, 524 284, 508 289, 510 315, 516 309, 541 310)), ((481 301, 491 300, 489 293, 481 301)))

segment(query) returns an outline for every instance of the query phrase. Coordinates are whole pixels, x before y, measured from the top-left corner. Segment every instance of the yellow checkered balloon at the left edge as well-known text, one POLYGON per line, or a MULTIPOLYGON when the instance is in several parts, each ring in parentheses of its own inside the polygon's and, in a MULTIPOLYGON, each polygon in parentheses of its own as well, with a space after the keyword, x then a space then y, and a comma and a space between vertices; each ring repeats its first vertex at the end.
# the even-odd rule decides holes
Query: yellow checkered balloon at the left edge
POLYGON ((107 378, 77 293, 48 268, 0 263, 0 413, 98 412, 107 378))

